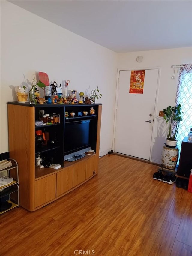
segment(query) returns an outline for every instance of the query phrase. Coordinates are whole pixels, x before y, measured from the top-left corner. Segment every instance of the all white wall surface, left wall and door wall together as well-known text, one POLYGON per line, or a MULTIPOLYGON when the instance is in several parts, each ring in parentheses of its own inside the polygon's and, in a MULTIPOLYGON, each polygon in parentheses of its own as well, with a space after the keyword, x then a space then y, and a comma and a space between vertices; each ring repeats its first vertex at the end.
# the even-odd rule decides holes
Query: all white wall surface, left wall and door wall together
POLYGON ((69 89, 88 92, 99 86, 103 97, 100 155, 113 143, 117 68, 161 67, 152 138, 151 161, 161 163, 165 130, 159 110, 174 105, 178 74, 171 80, 171 65, 191 63, 192 48, 117 54, 36 16, 10 2, 1 4, 1 149, 7 152, 7 101, 15 97, 15 86, 32 81, 35 72, 46 72, 49 81, 70 80, 69 89), (143 62, 136 62, 142 55, 143 62))

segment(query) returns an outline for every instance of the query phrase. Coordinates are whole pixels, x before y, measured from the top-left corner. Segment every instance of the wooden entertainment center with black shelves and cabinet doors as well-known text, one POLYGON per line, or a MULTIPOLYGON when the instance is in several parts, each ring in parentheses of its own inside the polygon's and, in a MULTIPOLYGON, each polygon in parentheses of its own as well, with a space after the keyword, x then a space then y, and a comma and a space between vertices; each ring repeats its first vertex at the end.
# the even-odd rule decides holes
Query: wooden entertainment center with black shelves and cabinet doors
MULTIPOLYGON (((16 159, 19 170, 19 205, 35 211, 79 187, 98 173, 102 104, 29 104, 8 102, 9 152, 16 159), (91 107, 95 114, 90 114, 91 107), (35 126, 40 111, 56 113, 58 124, 35 126), (88 115, 77 113, 87 111, 88 115), (75 112, 65 117, 65 112, 75 112), (86 155, 76 161, 64 161, 64 136, 67 122, 90 120, 90 146, 95 155, 86 155), (36 131, 49 132, 53 144, 38 147, 36 131), (36 158, 41 154, 51 158, 61 168, 40 169, 36 158)), ((77 135, 78 136, 78 135, 77 135)), ((15 173, 16 175, 16 173, 15 173)), ((14 175, 13 175, 14 176, 14 175)))

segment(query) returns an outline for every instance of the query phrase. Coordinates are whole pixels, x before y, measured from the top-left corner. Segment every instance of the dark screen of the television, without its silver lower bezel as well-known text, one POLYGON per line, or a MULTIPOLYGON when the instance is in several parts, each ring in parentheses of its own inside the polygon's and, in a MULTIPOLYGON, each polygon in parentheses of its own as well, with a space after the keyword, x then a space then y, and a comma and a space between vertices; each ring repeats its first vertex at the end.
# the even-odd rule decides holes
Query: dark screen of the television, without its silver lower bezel
POLYGON ((90 120, 65 123, 64 155, 89 146, 90 120))

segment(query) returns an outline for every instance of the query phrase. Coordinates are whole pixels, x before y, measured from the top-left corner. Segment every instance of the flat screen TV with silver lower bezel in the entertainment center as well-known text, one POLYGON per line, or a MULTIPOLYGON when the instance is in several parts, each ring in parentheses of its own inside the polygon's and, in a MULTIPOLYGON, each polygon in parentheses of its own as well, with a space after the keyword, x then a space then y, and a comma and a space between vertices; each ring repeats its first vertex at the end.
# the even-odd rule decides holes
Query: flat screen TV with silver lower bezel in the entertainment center
POLYGON ((85 156, 90 147, 90 120, 66 122, 64 129, 64 160, 74 161, 85 156))

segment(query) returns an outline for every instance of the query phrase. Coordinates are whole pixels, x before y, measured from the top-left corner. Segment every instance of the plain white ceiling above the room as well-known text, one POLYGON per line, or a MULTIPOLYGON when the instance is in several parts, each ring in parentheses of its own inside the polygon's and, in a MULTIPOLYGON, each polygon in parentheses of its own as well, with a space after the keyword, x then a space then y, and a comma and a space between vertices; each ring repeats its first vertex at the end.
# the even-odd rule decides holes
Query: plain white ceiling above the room
POLYGON ((192 46, 191 0, 9 2, 117 53, 192 46))

